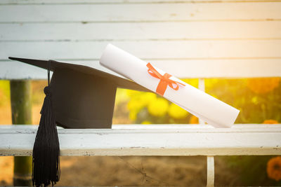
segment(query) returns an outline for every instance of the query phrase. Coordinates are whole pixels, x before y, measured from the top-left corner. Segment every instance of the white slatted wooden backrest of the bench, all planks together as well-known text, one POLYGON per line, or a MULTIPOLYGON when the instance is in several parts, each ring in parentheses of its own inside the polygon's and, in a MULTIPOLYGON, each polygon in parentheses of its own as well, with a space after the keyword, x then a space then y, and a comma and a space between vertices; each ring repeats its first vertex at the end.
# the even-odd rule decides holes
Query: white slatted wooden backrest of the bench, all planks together
POLYGON ((107 43, 180 78, 281 76, 280 1, 2 0, 0 79, 45 79, 8 56, 100 68, 107 43))

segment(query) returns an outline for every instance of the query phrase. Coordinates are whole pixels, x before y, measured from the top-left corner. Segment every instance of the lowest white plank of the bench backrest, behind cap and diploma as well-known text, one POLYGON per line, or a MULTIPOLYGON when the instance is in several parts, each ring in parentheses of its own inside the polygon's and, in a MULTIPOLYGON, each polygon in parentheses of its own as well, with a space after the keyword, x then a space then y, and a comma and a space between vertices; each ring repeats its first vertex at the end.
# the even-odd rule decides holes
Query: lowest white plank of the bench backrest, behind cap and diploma
MULTIPOLYGON (((178 78, 244 78, 281 76, 281 60, 148 60, 178 78)), ((97 60, 63 60, 110 74, 97 60)), ((46 79, 46 70, 15 61, 0 62, 0 79, 46 79)), ((118 74, 115 74, 118 76, 118 74)))

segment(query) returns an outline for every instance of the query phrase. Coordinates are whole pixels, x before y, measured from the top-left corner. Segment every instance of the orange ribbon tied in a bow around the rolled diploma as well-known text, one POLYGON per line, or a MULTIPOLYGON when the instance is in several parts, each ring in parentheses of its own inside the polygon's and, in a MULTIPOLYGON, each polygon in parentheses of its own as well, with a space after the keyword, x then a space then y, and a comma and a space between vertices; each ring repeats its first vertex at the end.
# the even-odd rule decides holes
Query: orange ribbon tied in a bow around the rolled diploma
POLYGON ((163 96, 168 85, 174 90, 178 90, 178 84, 185 86, 183 83, 178 83, 177 81, 169 79, 171 77, 170 74, 165 73, 164 76, 162 76, 154 67, 152 67, 152 64, 148 63, 146 66, 148 67, 148 74, 160 79, 156 89, 157 94, 163 96), (174 85, 176 85, 176 87, 174 87, 174 85))

